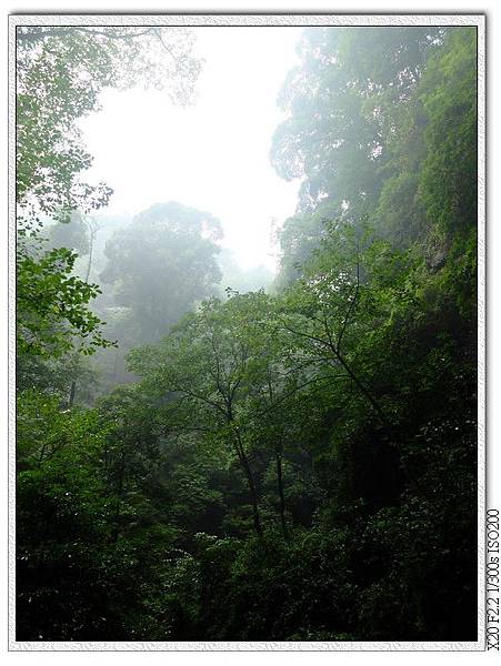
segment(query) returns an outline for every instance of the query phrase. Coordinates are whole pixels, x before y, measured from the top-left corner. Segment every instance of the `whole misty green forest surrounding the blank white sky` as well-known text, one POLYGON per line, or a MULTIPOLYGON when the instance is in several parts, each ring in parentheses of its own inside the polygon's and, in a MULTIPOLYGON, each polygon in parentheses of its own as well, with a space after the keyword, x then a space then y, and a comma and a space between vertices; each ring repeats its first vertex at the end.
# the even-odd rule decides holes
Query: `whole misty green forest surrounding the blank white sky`
POLYGON ((17 637, 475 640, 475 28, 304 29, 275 275, 86 181, 194 37, 18 28, 17 637))

